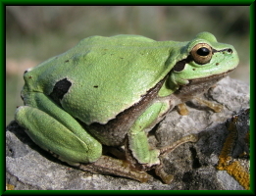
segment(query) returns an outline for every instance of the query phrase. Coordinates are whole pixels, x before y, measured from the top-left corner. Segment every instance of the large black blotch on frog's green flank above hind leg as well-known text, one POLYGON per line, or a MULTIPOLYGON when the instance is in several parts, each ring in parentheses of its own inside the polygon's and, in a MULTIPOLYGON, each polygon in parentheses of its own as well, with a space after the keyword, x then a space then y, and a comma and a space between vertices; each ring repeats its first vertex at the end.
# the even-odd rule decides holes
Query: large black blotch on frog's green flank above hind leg
POLYGON ((63 96, 69 91, 72 86, 72 82, 67 78, 57 81, 53 87, 51 94, 49 95, 55 102, 60 104, 60 100, 63 99, 63 96))

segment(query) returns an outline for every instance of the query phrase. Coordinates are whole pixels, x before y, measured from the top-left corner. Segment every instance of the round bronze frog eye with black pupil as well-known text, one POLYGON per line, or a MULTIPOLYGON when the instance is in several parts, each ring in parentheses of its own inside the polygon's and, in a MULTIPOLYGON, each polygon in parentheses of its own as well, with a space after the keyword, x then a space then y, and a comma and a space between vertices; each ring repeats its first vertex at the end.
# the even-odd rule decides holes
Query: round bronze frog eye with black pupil
POLYGON ((210 62, 213 50, 211 46, 206 43, 198 43, 193 47, 190 54, 195 63, 203 65, 210 62))

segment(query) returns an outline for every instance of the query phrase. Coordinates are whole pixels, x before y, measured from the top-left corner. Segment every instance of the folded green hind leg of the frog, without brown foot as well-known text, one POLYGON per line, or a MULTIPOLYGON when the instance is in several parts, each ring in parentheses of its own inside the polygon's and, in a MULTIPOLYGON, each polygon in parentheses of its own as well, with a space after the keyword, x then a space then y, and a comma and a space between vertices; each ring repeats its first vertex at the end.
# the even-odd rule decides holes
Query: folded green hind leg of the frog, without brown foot
POLYGON ((69 164, 91 163, 101 156, 101 144, 72 116, 42 93, 33 96, 37 106, 32 103, 33 106, 19 107, 15 119, 37 145, 69 164))

